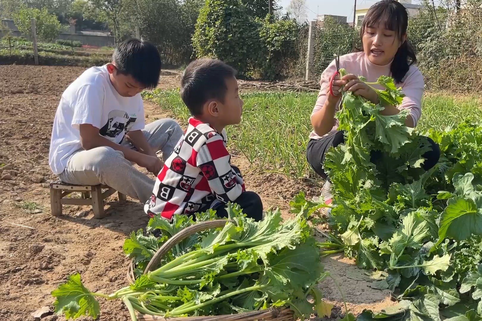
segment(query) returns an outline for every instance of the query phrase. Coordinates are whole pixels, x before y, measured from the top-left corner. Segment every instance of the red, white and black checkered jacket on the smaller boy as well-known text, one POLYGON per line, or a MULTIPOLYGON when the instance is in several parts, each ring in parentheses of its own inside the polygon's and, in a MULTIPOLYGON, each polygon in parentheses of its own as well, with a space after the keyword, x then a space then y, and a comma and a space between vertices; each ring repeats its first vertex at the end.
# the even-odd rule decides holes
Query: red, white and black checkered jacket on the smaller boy
POLYGON ((234 202, 245 191, 241 174, 231 167, 226 131, 190 117, 189 125, 159 173, 144 211, 171 220, 216 204, 234 202))

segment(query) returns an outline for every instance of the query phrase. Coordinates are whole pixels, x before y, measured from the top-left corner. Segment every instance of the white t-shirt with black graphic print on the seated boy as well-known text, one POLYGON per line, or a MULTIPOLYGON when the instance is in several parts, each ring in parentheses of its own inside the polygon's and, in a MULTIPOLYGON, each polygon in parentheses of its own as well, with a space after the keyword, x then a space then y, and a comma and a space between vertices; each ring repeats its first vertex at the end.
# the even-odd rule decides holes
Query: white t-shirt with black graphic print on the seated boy
POLYGON ((80 124, 97 127, 100 135, 120 144, 128 131, 144 129, 141 95, 120 96, 110 82, 107 65, 89 68, 71 83, 62 94, 52 129, 49 165, 55 175, 82 149, 80 124))

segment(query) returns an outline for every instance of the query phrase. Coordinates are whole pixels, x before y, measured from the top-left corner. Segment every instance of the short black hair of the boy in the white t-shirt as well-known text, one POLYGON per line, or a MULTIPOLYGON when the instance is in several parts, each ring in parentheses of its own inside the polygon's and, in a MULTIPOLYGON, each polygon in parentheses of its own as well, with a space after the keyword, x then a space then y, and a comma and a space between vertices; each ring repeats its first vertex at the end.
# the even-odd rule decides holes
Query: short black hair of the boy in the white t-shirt
POLYGON ((134 77, 148 89, 156 88, 159 83, 161 55, 149 41, 129 39, 121 42, 112 60, 121 74, 134 77))

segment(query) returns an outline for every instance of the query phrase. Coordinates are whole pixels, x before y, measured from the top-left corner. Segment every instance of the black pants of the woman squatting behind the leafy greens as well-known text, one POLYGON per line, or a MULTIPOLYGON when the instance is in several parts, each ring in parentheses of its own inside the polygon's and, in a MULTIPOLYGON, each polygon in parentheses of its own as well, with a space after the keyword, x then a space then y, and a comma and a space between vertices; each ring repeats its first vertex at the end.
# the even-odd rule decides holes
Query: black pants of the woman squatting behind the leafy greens
MULTIPOLYGON (((430 168, 434 167, 439 161, 440 147, 432 139, 428 137, 426 137, 426 139, 430 143, 432 149, 426 152, 425 154, 423 154, 423 157, 426 159, 423 164, 423 169, 429 170, 430 168)), ((327 135, 319 140, 310 140, 308 142, 308 147, 306 152, 306 158, 308 160, 308 164, 324 180, 330 181, 330 179, 328 178, 328 176, 326 175, 323 169, 323 163, 325 161, 325 156, 326 156, 326 153, 328 152, 328 149, 331 146, 336 147, 339 144, 344 142, 345 142, 344 132, 340 130, 330 135, 327 135)), ((380 157, 381 157, 380 151, 373 151, 371 154, 372 163, 375 163, 375 161, 380 157)))

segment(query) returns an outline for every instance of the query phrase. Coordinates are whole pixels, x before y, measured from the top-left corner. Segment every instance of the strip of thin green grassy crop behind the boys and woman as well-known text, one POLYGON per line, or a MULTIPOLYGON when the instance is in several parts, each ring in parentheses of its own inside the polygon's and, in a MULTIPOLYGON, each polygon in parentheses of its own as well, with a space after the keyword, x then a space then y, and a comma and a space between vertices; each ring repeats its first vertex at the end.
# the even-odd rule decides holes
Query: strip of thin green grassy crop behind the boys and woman
MULTIPOLYGON (((190 116, 177 90, 144 92, 165 112, 186 124, 190 116)), ((312 93, 245 93, 241 123, 226 128, 230 151, 244 154, 255 167, 295 178, 307 177, 306 146, 311 131, 309 116, 316 101, 312 93)), ((481 99, 428 94, 423 100, 417 130, 443 130, 465 119, 480 121, 481 99)))

